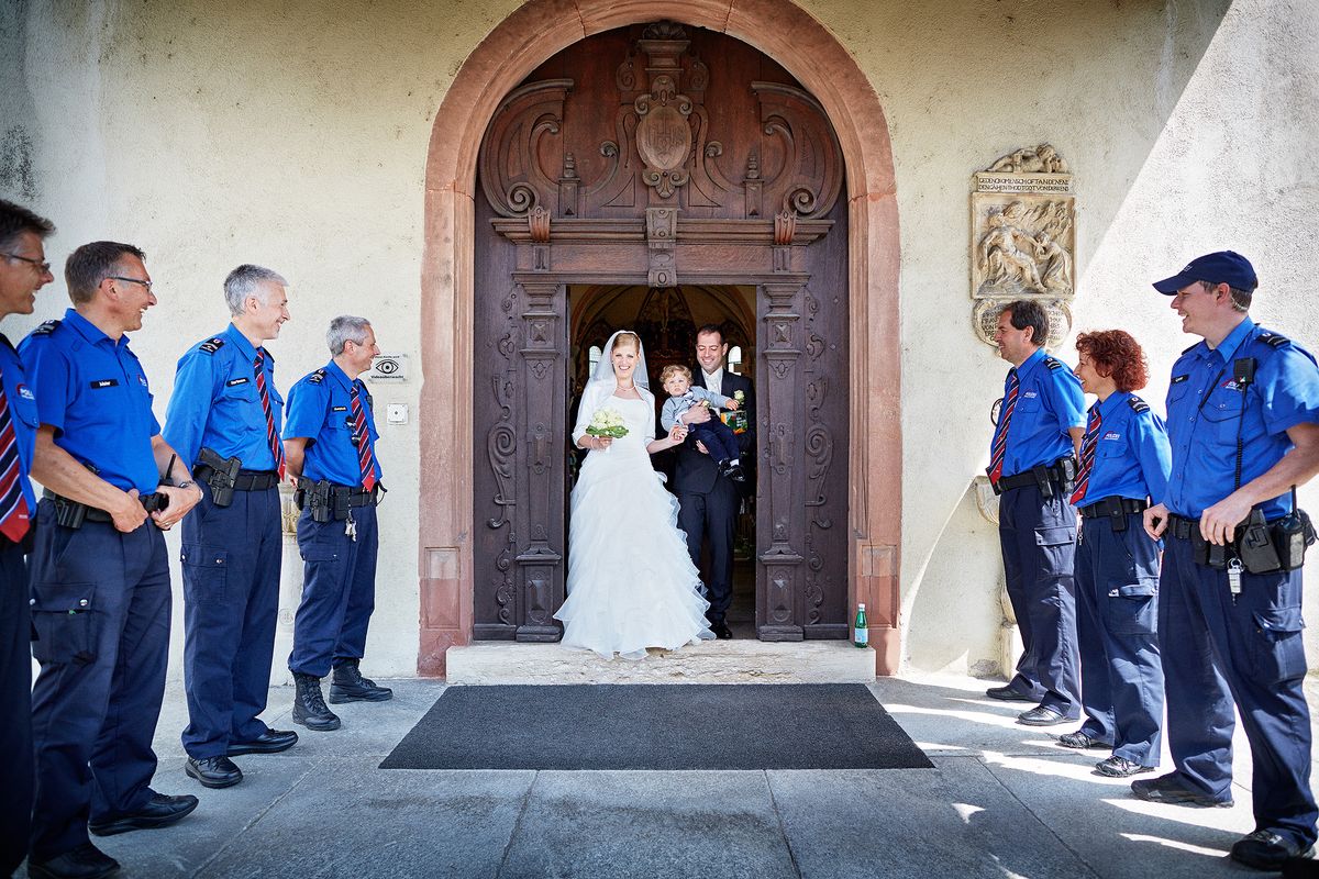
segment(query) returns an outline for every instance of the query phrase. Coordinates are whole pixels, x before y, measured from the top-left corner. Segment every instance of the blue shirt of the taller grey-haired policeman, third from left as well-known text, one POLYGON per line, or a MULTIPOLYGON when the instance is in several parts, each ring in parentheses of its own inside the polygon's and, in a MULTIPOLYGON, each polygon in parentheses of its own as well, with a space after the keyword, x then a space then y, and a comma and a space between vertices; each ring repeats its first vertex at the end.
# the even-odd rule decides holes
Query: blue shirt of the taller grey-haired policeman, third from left
MULTIPOLYGON (((247 470, 274 469, 255 362, 256 348, 233 324, 222 335, 193 345, 179 358, 165 414, 165 441, 190 469, 197 467, 203 447, 220 457, 240 459, 247 470)), ((278 435, 284 398, 274 389, 274 358, 268 351, 262 370, 278 435)))

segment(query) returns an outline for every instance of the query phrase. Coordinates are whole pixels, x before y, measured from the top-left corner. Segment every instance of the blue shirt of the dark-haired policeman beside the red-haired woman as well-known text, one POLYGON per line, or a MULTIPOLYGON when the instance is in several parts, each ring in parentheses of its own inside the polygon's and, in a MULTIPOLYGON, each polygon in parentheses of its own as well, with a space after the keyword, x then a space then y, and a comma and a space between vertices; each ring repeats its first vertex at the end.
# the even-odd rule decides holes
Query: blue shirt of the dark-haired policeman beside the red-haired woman
POLYGON ((1086 426, 1086 394, 1080 390, 1080 380, 1043 348, 1017 368, 1017 406, 1008 424, 1008 448, 1002 457, 1004 476, 1072 456, 1075 447, 1067 430, 1086 426))

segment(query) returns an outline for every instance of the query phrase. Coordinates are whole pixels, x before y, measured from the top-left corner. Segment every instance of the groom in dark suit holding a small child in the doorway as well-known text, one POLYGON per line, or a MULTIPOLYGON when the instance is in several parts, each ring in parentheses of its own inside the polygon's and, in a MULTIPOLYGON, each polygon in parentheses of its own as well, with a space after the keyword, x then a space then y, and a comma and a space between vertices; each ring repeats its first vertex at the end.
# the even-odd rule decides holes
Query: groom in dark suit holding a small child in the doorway
MULTIPOLYGON (((736 391, 745 395, 739 407, 747 412, 747 432, 737 435, 741 449, 743 468, 747 473, 745 488, 756 490, 756 394, 751 380, 725 369, 728 343, 723 331, 715 324, 706 324, 696 331, 696 362, 700 366, 692 376, 695 387, 704 387, 725 397, 736 391)), ((694 406, 682 414, 686 424, 718 418, 703 406, 694 406)), ((695 448, 695 438, 678 448, 678 463, 674 467, 673 488, 678 496, 678 527, 687 535, 687 551, 691 561, 700 567, 700 546, 710 546, 710 629, 719 638, 732 638, 724 614, 733 593, 733 527, 737 521, 737 506, 741 501, 737 485, 719 473, 719 465, 710 455, 695 448)))

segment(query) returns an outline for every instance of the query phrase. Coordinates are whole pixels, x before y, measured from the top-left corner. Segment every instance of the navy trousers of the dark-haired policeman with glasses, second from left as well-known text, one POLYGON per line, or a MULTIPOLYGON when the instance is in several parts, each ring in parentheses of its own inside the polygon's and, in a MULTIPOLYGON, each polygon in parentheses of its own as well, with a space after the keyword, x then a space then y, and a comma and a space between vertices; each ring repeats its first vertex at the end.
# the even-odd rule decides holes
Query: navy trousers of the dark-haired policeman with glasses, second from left
POLYGON ((87 842, 87 821, 136 812, 152 799, 152 737, 165 695, 170 581, 165 536, 150 521, 131 534, 108 522, 77 531, 37 506, 32 553, 32 692, 37 795, 32 858, 87 842))

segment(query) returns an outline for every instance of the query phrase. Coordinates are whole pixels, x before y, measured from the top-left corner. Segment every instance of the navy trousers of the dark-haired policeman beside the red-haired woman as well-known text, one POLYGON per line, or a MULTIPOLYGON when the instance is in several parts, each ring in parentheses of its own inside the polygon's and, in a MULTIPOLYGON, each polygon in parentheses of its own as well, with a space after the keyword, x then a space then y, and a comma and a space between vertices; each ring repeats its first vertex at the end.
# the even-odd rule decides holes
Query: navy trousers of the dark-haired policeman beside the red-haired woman
POLYGON ((998 543, 1024 651, 1009 685, 1063 717, 1080 717, 1076 650, 1076 507, 1054 486, 998 498, 998 543))

